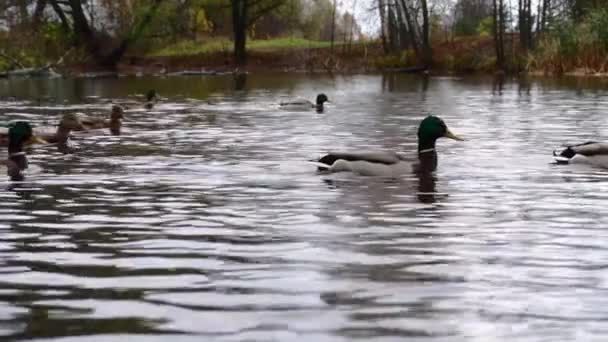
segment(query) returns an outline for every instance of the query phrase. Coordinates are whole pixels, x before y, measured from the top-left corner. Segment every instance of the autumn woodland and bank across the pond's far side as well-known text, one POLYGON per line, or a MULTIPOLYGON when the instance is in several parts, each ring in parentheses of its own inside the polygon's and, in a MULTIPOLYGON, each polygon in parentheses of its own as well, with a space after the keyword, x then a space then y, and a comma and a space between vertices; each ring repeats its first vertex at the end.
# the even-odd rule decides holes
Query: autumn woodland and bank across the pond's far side
POLYGON ((0 3, 0 70, 169 63, 344 71, 350 62, 349 70, 595 74, 608 71, 607 49, 608 2, 600 0, 0 3))

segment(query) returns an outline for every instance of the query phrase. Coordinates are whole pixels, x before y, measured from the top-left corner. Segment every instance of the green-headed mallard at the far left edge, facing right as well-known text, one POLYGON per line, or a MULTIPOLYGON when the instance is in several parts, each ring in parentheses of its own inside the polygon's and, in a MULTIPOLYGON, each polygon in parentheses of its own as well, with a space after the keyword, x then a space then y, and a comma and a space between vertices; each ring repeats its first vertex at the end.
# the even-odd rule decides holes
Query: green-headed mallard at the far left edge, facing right
POLYGON ((8 159, 6 171, 12 181, 23 180, 23 170, 27 169, 27 157, 23 151, 24 145, 46 143, 35 136, 32 126, 27 121, 14 121, 8 127, 8 159))

